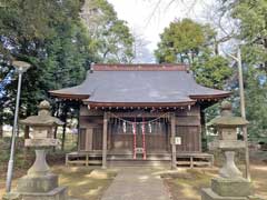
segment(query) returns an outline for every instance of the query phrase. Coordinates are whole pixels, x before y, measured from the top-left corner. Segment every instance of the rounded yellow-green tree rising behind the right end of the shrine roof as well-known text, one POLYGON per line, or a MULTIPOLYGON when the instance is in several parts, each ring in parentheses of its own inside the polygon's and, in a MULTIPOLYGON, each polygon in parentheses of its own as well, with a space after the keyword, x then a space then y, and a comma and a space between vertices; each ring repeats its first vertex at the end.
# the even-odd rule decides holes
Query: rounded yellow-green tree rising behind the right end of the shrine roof
POLYGON ((215 54, 215 37, 209 26, 190 19, 175 21, 160 34, 155 56, 159 62, 189 63, 198 83, 222 89, 231 69, 224 57, 215 54))

